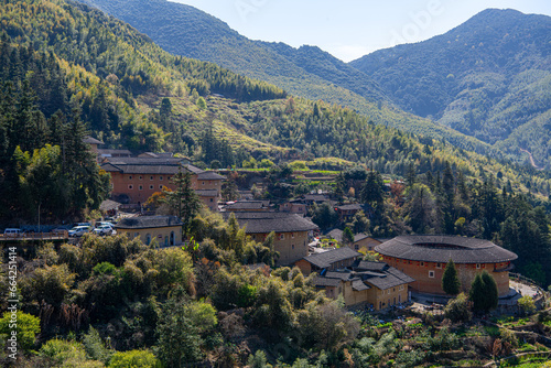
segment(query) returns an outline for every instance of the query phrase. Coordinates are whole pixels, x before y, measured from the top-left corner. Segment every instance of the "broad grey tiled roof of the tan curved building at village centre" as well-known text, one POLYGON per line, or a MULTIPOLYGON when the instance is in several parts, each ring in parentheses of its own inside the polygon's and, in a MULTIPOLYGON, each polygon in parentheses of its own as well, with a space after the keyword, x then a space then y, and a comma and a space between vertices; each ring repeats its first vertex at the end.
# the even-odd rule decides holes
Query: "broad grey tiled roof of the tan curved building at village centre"
POLYGON ((227 219, 234 214, 240 227, 247 226, 247 234, 310 231, 317 225, 300 215, 270 212, 223 213, 227 219))

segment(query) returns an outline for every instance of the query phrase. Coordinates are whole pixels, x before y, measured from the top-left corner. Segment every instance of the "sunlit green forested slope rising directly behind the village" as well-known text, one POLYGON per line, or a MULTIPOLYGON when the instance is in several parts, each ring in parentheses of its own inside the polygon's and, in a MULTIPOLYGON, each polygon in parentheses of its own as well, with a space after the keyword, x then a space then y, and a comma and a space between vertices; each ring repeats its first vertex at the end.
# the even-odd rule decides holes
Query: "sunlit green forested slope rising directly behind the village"
MULTIPOLYGON (((127 24, 86 6, 29 0, 2 2, 0 10, 0 32, 6 33, 2 82, 11 82, 18 90, 14 100, 3 105, 0 131, 15 137, 17 123, 6 111, 17 107, 21 116, 36 117, 33 129, 46 137, 22 145, 23 151, 60 144, 47 138, 58 120, 78 117, 110 148, 169 150, 207 165, 218 160, 224 166, 240 166, 251 155, 276 162, 336 158, 404 175, 410 165, 421 173, 437 172, 449 161, 466 176, 496 175, 504 184, 510 181, 549 195, 544 173, 374 125, 350 109, 289 97, 276 86, 214 64, 173 56, 127 24), (48 64, 32 66, 25 62, 29 57, 48 64), (51 75, 51 68, 60 71, 54 85, 60 87, 54 90, 44 88, 48 83, 43 76, 51 75), (23 104, 25 94, 34 105, 23 104), (52 98, 60 94, 65 97, 52 98), (57 110, 62 116, 56 120, 57 110)), ((3 93, 10 94, 7 86, 3 93)), ((4 154, 9 167, 17 163, 17 145, 14 140, 4 154)))

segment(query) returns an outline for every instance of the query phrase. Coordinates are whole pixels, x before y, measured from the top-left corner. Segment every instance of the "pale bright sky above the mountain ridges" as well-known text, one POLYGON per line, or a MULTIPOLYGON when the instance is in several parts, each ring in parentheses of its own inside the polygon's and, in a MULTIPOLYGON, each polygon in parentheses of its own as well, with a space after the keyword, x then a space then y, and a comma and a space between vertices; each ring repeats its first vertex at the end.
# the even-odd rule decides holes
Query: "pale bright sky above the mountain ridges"
POLYGON ((315 45, 345 62, 445 33, 487 8, 551 15, 550 0, 172 1, 198 8, 249 39, 315 45))

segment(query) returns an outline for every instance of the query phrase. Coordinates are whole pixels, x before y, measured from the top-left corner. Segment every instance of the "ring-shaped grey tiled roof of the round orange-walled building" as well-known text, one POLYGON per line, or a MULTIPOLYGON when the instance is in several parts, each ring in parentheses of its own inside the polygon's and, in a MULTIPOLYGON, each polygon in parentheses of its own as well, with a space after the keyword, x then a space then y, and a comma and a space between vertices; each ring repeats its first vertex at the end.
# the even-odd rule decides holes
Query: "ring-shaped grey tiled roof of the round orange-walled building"
POLYGON ((450 259, 454 263, 499 263, 518 258, 488 240, 441 235, 399 236, 378 245, 375 250, 388 257, 440 263, 450 259))

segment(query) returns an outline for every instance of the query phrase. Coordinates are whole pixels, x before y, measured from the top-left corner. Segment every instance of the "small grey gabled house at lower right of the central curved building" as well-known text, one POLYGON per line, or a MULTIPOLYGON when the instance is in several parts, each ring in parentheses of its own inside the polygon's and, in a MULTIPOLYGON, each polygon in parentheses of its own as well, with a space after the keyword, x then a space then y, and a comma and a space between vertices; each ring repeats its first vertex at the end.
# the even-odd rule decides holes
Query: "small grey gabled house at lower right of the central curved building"
POLYGON ((343 247, 304 257, 295 261, 294 266, 300 268, 302 273, 309 275, 312 272, 321 272, 322 270, 334 271, 352 267, 360 257, 364 257, 364 255, 348 247, 343 247))

